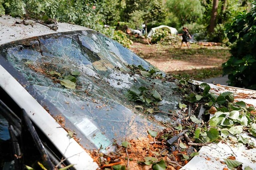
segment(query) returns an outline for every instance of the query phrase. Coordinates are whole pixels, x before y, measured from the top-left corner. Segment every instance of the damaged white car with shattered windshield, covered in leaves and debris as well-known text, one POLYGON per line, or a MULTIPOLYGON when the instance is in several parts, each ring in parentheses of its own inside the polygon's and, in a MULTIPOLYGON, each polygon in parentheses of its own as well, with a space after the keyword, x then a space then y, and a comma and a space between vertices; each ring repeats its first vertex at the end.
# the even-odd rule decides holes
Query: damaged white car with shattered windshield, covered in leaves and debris
POLYGON ((0 23, 2 169, 256 168, 255 91, 178 80, 86 27, 0 23))

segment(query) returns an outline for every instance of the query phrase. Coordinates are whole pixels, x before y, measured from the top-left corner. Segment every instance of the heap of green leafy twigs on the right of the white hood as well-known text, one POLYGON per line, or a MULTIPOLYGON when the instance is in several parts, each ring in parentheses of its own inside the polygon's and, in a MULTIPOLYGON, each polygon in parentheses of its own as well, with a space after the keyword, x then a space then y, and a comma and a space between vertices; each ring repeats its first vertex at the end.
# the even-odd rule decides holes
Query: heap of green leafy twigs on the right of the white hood
MULTIPOLYGON (((211 93, 210 86, 206 83, 195 86, 195 89, 198 88, 198 92, 187 87, 188 85, 185 85, 182 90, 187 92, 184 97, 188 104, 203 106, 206 110, 204 116, 209 113, 214 114, 214 117, 194 131, 195 142, 208 143, 232 139, 234 142, 255 145, 240 135, 244 131, 256 137, 255 116, 251 113, 254 111, 254 107, 247 107, 244 102, 234 103, 232 92, 224 92, 219 96, 211 93), (203 87, 204 90, 200 90, 200 87, 203 87), (233 135, 235 138, 232 137, 233 135)), ((192 116, 190 119, 195 123, 201 123, 192 116)))

